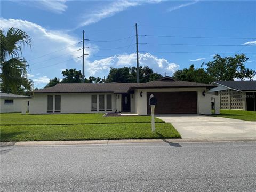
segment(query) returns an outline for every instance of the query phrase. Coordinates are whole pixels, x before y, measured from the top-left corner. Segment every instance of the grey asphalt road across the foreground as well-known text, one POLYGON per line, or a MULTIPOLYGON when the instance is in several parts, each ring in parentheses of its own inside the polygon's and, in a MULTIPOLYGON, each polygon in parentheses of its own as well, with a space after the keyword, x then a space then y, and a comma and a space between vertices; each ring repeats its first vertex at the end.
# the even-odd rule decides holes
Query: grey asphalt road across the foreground
POLYGON ((256 142, 1 147, 1 191, 255 191, 256 142))

